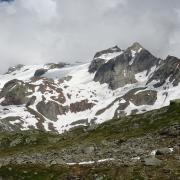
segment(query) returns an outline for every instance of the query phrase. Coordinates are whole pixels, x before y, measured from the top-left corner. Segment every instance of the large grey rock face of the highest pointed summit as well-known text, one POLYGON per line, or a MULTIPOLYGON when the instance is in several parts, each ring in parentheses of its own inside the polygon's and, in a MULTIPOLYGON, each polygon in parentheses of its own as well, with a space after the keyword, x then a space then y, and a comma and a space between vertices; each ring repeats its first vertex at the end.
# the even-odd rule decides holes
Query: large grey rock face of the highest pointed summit
POLYGON ((135 83, 136 73, 144 70, 147 70, 148 73, 159 61, 150 52, 135 43, 116 58, 101 66, 98 64, 94 81, 101 84, 107 83, 111 89, 117 89, 126 84, 135 83))

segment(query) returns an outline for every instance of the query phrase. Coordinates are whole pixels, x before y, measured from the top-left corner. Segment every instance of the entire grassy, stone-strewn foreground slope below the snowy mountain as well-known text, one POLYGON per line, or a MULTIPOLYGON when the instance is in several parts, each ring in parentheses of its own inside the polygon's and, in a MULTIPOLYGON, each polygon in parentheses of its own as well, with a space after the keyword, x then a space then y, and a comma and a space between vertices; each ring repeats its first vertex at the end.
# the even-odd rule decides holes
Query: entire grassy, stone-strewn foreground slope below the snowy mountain
POLYGON ((0 133, 2 179, 178 179, 180 104, 64 134, 0 133))

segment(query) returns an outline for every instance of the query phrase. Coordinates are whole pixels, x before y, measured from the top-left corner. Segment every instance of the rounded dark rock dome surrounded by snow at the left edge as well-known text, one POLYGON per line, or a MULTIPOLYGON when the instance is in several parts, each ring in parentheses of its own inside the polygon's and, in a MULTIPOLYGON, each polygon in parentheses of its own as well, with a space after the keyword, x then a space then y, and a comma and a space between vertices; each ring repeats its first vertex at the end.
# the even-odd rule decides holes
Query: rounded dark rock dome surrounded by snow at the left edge
POLYGON ((25 104, 28 101, 27 95, 29 95, 28 87, 25 83, 16 79, 11 80, 4 85, 0 93, 0 98, 5 98, 1 105, 25 104))

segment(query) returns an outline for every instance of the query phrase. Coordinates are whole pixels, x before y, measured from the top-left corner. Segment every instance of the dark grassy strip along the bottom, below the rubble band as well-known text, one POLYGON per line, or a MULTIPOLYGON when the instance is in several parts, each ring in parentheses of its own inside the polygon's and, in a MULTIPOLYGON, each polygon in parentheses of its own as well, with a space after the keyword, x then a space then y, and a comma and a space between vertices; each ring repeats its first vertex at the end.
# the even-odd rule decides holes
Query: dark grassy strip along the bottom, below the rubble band
POLYGON ((25 165, 6 166, 0 169, 0 177, 5 180, 145 180, 177 179, 180 175, 179 165, 172 166, 172 160, 165 167, 117 166, 99 164, 86 166, 51 166, 25 165))

